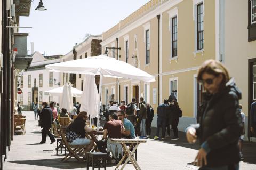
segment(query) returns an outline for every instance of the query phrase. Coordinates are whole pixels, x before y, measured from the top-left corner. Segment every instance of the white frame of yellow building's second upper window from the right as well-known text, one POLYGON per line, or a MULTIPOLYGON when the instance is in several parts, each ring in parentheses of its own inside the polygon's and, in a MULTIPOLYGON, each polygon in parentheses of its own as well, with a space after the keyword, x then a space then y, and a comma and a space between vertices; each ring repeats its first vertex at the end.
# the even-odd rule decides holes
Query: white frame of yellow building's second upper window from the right
MULTIPOLYGON (((176 61, 178 59, 178 52, 177 52, 177 56, 172 57, 172 18, 174 17, 177 18, 177 42, 178 42, 178 26, 179 26, 178 25, 178 9, 179 7, 174 7, 173 9, 167 12, 169 14, 169 31, 171 34, 171 54, 170 54, 169 60, 176 60, 176 61)), ((177 49, 178 49, 178 43, 177 43, 177 49)))

